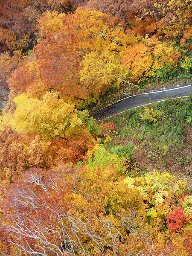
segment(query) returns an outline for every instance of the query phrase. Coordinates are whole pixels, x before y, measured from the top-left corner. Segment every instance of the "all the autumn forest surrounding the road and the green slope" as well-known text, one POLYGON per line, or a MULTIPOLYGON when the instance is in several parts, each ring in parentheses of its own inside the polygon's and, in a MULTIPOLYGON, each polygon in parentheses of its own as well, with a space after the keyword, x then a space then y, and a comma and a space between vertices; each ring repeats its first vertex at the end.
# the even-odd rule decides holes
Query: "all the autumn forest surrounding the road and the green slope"
MULTIPOLYGON (((110 144, 118 124, 87 110, 191 76, 191 13, 189 0, 0 2, 1 255, 192 254, 187 183, 144 172, 136 144, 110 144)), ((142 129, 165 114, 145 108, 142 129)))

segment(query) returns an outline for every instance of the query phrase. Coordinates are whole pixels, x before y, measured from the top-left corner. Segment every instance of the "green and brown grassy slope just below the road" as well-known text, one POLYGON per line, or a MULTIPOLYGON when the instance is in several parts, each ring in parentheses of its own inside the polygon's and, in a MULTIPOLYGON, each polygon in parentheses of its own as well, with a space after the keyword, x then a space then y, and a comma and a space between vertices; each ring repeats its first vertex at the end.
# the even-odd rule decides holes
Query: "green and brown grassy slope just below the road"
POLYGON ((144 107, 112 117, 110 122, 115 122, 119 130, 105 148, 131 142, 141 171, 167 170, 192 186, 192 96, 169 99, 150 108, 161 111, 157 122, 141 118, 144 107))

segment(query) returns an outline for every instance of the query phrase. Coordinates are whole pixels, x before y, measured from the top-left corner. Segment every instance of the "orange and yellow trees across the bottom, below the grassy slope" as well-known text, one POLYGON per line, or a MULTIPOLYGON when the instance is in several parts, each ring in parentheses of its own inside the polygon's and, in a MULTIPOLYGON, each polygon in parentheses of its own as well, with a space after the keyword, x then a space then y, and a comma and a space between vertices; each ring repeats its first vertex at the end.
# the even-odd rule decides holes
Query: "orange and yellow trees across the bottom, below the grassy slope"
POLYGON ((98 148, 93 159, 78 169, 71 165, 49 171, 33 168, 9 190, 2 184, 1 232, 5 240, 9 236, 8 242, 2 240, 2 247, 9 253, 14 248, 48 255, 111 255, 111 251, 126 255, 127 250, 174 255, 181 245, 166 243, 174 239, 174 233, 162 230, 168 212, 167 218, 177 226, 172 230, 168 224, 170 231, 177 231, 177 237, 184 234, 186 244, 182 250, 191 251, 187 235, 191 217, 186 219, 184 209, 177 206, 172 210, 167 204, 185 184, 172 180, 174 177, 168 173, 119 176, 122 159, 98 148), (152 192, 157 188, 160 190, 152 192), (152 204, 155 207, 146 211, 152 204), (178 227, 183 227, 182 233, 178 227))

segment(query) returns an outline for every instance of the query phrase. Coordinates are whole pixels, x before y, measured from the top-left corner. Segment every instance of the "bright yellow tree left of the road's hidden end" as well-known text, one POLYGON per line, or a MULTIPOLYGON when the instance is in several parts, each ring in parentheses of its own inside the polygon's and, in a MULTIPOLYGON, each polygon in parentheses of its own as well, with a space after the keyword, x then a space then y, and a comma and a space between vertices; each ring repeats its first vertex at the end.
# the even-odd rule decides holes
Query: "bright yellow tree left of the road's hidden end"
POLYGON ((41 134, 44 140, 67 138, 82 125, 74 106, 59 99, 56 92, 46 93, 42 100, 20 94, 14 102, 17 108, 10 123, 20 133, 41 134))

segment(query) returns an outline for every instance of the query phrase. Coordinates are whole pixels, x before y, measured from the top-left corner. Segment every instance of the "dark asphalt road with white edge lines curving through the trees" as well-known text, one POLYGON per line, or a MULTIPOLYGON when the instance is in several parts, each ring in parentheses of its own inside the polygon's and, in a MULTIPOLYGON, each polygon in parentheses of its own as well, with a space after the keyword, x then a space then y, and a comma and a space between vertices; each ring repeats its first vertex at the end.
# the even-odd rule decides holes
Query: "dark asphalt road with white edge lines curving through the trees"
POLYGON ((93 117, 97 120, 100 120, 116 115, 118 113, 125 112, 131 108, 137 108, 139 106, 151 104, 152 102, 159 102, 169 97, 178 98, 189 96, 190 93, 192 93, 191 82, 188 84, 180 84, 160 90, 152 90, 140 95, 129 96, 125 99, 115 102, 106 108, 96 111, 96 113, 93 114, 93 117))

